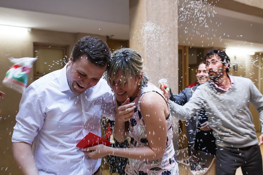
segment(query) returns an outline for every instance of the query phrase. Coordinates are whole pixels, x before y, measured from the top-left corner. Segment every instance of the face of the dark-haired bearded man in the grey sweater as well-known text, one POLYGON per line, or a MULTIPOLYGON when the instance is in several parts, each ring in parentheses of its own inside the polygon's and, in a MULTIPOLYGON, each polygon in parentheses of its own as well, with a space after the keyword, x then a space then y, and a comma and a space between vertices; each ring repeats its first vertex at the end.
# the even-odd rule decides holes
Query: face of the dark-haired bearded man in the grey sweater
POLYGON ((211 80, 220 78, 227 69, 217 54, 207 57, 205 65, 211 80))

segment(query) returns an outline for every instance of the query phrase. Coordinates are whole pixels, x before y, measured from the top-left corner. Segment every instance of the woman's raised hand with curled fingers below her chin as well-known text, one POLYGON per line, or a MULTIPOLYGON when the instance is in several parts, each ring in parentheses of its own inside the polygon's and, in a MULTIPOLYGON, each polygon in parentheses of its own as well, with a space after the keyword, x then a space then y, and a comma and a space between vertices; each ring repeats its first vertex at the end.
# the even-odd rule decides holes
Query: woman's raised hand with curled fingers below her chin
POLYGON ((127 98, 126 101, 123 102, 123 104, 117 108, 116 110, 116 119, 126 122, 129 121, 132 118, 132 115, 134 113, 134 109, 135 109, 135 103, 130 103, 128 104, 130 101, 129 98, 127 98))

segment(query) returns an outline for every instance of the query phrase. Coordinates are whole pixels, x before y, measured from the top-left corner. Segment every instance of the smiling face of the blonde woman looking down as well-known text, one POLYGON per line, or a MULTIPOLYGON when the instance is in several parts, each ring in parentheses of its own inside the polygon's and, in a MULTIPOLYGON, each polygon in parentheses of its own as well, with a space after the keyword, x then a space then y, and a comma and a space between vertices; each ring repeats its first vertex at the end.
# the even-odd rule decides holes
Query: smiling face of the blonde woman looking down
MULTIPOLYGON (((117 73, 116 78, 113 80, 113 85, 110 85, 110 87, 112 88, 115 97, 118 101, 120 102, 124 102, 127 98, 132 97, 132 99, 135 99, 141 85, 138 85, 138 83, 140 83, 141 81, 141 77, 125 77, 125 85, 124 87, 121 85, 121 81, 123 81, 122 78, 122 71, 119 71, 117 73), (128 86, 127 80, 129 78, 129 84, 130 86, 128 86)), ((131 102, 131 101, 130 101, 131 102)))

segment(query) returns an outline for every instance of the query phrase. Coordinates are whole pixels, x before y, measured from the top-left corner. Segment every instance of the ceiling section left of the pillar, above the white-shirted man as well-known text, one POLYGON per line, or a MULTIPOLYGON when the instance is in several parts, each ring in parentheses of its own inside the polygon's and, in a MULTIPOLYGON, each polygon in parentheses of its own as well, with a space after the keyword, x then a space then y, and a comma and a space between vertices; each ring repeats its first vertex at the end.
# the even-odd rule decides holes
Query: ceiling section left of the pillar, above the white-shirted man
POLYGON ((0 24, 129 39, 129 0, 0 1, 0 24))

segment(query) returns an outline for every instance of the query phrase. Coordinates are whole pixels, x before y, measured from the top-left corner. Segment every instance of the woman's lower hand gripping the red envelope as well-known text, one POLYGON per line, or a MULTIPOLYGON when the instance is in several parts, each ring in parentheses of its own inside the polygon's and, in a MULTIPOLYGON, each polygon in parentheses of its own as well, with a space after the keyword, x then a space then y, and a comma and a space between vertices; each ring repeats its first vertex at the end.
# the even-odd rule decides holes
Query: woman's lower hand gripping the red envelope
POLYGON ((98 160, 110 153, 109 146, 105 146, 103 144, 99 144, 96 146, 91 146, 88 148, 84 148, 84 153, 89 156, 91 159, 98 160))

